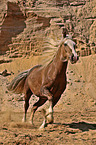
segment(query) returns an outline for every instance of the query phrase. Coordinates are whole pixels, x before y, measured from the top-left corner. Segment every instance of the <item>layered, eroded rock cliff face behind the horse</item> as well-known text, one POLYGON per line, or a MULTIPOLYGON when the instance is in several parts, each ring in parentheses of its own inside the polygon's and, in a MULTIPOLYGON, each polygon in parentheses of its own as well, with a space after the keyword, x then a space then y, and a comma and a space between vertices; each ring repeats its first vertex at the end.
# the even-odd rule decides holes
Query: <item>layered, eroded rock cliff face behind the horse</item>
POLYGON ((90 45, 96 42, 96 2, 93 0, 5 0, 0 3, 0 54, 7 50, 37 54, 47 37, 56 29, 56 36, 60 35, 62 27, 66 27, 76 41, 85 43, 84 54, 96 48, 96 44, 94 49, 90 45))

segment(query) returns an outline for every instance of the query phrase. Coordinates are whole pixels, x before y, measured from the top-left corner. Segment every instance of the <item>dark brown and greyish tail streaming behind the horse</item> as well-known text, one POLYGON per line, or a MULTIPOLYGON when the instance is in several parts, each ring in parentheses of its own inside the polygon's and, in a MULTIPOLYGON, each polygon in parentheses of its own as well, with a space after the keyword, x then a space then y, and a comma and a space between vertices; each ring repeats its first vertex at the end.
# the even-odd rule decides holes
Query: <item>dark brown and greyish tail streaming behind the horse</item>
POLYGON ((10 84, 7 85, 7 89, 14 93, 23 93, 25 80, 31 69, 23 71, 18 76, 16 76, 10 84))

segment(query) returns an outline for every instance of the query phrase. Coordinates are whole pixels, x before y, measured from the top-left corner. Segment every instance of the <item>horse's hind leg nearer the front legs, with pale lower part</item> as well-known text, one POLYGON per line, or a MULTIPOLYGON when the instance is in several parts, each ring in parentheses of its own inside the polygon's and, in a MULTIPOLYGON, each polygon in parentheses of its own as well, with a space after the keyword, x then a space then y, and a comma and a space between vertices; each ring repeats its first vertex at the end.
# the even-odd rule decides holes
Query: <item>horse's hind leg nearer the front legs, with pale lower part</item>
POLYGON ((38 107, 42 106, 47 101, 47 98, 39 98, 39 100, 33 105, 31 110, 31 116, 30 116, 30 123, 33 124, 33 118, 36 110, 38 107))

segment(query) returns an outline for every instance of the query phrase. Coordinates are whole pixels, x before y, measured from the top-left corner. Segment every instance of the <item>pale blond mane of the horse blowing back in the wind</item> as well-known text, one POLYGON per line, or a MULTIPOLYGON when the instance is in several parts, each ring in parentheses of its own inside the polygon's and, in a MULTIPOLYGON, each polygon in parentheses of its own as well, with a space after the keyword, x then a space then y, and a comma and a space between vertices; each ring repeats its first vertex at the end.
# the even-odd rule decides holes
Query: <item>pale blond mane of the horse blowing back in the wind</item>
POLYGON ((41 54, 41 61, 44 66, 47 65, 49 62, 51 62, 56 55, 56 52, 58 51, 59 47, 64 43, 67 39, 72 39, 71 35, 66 35, 65 38, 63 38, 62 35, 59 37, 51 37, 47 38, 45 41, 43 47, 42 47, 42 54, 41 54))

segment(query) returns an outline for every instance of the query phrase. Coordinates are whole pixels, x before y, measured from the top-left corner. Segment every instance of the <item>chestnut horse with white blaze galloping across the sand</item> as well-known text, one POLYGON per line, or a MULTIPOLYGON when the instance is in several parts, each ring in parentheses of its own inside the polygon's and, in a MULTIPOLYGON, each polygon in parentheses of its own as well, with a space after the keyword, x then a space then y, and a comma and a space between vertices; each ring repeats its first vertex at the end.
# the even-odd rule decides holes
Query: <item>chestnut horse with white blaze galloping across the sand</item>
POLYGON ((66 88, 66 69, 68 60, 76 63, 79 57, 75 51, 75 42, 72 38, 65 36, 58 47, 53 60, 46 66, 37 65, 29 70, 20 73, 9 85, 8 90, 25 94, 25 114, 23 121, 26 121, 26 113, 29 107, 29 99, 32 94, 39 97, 33 105, 30 122, 33 124, 34 113, 38 107, 47 100, 49 109, 43 110, 44 121, 40 128, 53 122, 53 107, 61 97, 66 88))

